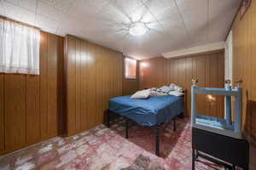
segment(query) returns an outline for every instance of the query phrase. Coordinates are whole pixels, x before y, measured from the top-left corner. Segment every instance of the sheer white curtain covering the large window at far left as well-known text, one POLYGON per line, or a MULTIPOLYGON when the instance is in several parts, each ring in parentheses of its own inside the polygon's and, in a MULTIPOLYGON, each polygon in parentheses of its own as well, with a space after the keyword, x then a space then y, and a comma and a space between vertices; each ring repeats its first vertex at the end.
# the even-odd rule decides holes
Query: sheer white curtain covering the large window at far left
POLYGON ((40 31, 0 18, 0 72, 39 75, 40 31))

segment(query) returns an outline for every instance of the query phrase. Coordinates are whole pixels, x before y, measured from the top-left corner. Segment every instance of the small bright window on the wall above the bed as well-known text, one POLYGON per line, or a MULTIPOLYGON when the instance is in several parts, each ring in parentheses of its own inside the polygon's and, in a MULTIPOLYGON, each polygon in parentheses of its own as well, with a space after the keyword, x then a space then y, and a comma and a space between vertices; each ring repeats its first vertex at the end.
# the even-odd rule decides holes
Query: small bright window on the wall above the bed
POLYGON ((137 60, 125 58, 125 78, 136 79, 137 60))

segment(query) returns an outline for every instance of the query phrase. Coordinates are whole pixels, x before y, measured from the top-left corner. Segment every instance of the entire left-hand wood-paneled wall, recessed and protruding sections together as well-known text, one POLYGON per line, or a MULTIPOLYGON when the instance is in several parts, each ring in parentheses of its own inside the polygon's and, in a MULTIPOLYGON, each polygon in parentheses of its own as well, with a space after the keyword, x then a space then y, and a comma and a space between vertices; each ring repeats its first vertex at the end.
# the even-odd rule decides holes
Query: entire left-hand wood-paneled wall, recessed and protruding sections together
POLYGON ((121 53, 67 38, 64 62, 64 38, 41 32, 39 76, 0 74, 1 155, 101 124, 108 99, 122 95, 123 82, 125 93, 137 90, 138 79, 123 79, 121 53), (66 103, 73 114, 63 116, 66 103))

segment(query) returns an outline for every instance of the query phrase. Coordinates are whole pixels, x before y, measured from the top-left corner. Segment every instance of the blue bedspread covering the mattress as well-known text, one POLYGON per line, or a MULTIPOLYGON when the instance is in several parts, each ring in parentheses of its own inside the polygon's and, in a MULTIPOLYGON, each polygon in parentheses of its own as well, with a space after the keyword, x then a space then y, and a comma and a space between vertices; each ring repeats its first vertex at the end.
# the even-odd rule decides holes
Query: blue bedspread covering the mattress
POLYGON ((131 95, 109 99, 109 110, 143 126, 169 122, 184 111, 183 97, 173 95, 131 99, 131 95))

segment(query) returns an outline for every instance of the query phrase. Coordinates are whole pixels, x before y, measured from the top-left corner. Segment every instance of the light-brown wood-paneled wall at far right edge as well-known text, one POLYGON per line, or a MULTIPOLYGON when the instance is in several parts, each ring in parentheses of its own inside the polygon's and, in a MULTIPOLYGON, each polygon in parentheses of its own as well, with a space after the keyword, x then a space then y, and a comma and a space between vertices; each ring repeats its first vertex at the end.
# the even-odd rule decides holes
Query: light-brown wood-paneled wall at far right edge
POLYGON ((256 2, 252 1, 247 13, 240 15, 233 31, 233 79, 242 79, 243 124, 256 144, 256 2))

